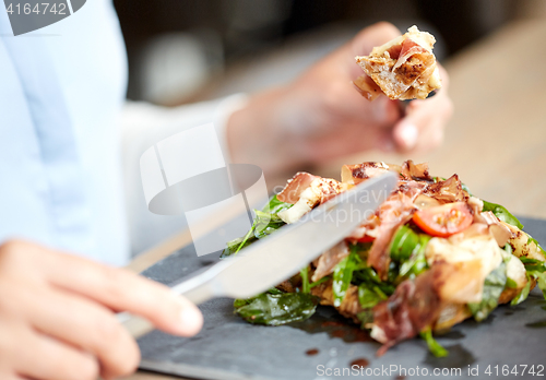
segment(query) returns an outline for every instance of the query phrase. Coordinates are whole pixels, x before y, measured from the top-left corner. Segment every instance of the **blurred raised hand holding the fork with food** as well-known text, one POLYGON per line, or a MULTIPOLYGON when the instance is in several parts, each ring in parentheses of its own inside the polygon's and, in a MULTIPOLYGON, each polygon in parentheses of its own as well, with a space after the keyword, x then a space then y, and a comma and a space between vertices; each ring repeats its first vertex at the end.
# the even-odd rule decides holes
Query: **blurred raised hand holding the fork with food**
POLYGON ((228 122, 234 162, 274 173, 369 149, 414 153, 438 146, 452 109, 443 69, 439 93, 413 100, 405 114, 400 102, 369 102, 351 83, 364 74, 355 56, 399 35, 388 23, 367 27, 292 84, 252 97, 228 122))

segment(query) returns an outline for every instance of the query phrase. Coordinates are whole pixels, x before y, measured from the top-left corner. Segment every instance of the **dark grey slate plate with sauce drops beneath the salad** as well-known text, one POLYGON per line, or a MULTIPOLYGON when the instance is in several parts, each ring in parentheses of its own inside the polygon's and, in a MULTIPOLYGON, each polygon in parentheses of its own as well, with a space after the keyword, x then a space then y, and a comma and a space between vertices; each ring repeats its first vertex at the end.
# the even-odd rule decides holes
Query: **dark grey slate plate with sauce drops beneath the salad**
MULTIPOLYGON (((546 221, 520 219, 525 230, 546 246, 546 221)), ((188 246, 143 274, 173 284, 181 274, 213 263, 215 257, 198 258, 193 246, 188 246)), ((467 320, 438 337, 450 352, 447 358, 431 356, 419 339, 403 342, 378 358, 376 351, 380 345, 347 324, 332 308, 319 307, 305 322, 271 328, 244 322, 234 314, 232 299, 214 299, 201 306, 205 323, 197 336, 181 339, 154 331, 140 339, 141 368, 222 380, 403 379, 404 376, 464 379, 473 375, 539 379, 546 378, 545 309, 546 302, 535 289, 517 307, 501 306, 485 322, 467 320), (318 353, 308 355, 310 349, 318 353), (369 364, 360 371, 349 372, 357 359, 369 364), (524 366, 527 367, 522 373, 524 366), (534 375, 529 372, 531 366, 534 375)))

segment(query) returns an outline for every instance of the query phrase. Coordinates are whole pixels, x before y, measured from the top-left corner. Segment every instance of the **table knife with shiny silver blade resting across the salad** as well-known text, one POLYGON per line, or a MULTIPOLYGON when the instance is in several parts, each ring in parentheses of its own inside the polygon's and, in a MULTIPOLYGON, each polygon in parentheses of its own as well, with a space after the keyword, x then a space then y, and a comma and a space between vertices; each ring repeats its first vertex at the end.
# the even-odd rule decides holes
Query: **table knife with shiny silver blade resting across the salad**
MULTIPOLYGON (((387 200, 396 183, 394 173, 368 179, 171 290, 197 305, 215 297, 249 298, 265 292, 349 235, 387 200)), ((117 317, 134 337, 155 329, 138 316, 121 312, 117 317)))

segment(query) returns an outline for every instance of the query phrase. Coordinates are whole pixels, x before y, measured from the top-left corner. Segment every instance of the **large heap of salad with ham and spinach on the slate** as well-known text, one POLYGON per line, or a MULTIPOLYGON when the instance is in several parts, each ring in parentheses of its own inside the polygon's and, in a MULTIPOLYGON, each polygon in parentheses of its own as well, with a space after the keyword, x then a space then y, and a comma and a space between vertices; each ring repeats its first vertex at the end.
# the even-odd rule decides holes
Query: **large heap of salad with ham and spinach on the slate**
POLYGON ((500 304, 524 301, 535 285, 546 297, 546 252, 521 223, 471 194, 456 174, 432 177, 428 164, 412 161, 345 165, 341 181, 296 174, 256 211, 252 228, 229 241, 223 257, 385 171, 397 173, 399 183, 372 215, 363 215, 359 227, 300 273, 237 299, 237 313, 250 323, 278 325, 327 305, 382 343, 379 355, 420 335, 432 354, 444 356, 432 333, 467 318, 480 322, 500 304))

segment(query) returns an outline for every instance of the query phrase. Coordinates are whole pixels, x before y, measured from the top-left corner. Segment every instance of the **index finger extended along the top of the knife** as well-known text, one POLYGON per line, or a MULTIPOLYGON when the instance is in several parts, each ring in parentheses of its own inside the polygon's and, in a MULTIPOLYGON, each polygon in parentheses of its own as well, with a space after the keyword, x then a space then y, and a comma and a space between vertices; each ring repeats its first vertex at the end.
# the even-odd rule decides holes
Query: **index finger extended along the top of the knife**
MULTIPOLYGON (((177 335, 194 335, 203 324, 201 311, 162 284, 127 270, 54 252, 44 260, 48 281, 68 292, 85 296, 116 311, 142 316, 158 329, 177 335)), ((37 258, 39 260, 39 258, 37 258)))

